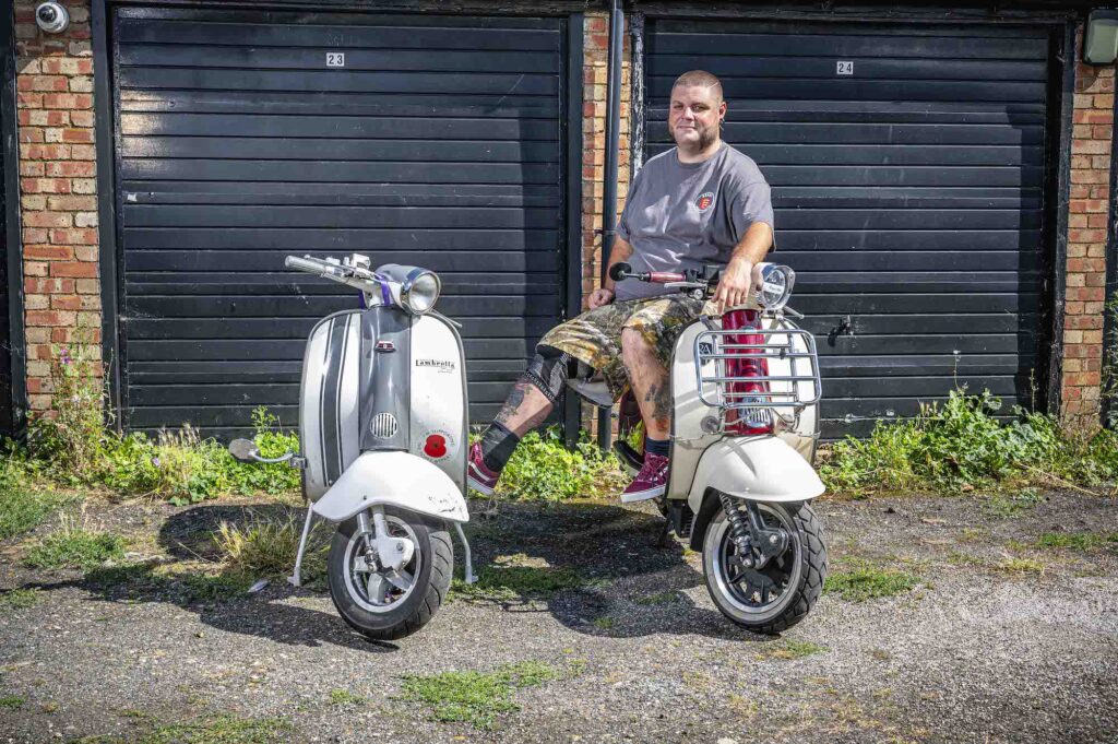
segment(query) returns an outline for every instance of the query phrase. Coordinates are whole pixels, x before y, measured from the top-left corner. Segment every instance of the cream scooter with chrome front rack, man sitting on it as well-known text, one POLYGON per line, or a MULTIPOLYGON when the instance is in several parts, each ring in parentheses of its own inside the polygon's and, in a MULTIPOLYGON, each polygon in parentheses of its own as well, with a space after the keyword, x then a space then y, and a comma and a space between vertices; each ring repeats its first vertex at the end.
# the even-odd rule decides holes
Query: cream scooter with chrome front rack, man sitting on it
MULTIPOLYGON (((615 264, 615 281, 662 283, 703 300, 719 267, 638 274, 615 264)), ((823 590, 827 556, 811 500, 824 491, 812 465, 818 441, 821 380, 815 339, 787 308, 795 284, 787 266, 758 264, 748 304, 686 327, 671 364, 671 459, 665 537, 674 531, 702 552, 714 604, 755 632, 777 633, 803 620, 823 590)), ((588 380, 571 386, 613 404, 588 380)), ((639 422, 622 401, 615 450, 631 471, 643 448, 626 442, 639 422)))

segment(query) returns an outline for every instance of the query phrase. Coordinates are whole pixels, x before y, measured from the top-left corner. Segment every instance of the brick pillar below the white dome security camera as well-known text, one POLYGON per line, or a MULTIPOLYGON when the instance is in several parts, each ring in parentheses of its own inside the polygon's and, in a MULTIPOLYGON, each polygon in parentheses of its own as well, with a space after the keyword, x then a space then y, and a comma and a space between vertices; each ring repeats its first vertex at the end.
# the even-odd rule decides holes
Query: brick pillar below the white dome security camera
POLYGON ((16 2, 17 112, 27 390, 32 411, 50 406, 54 345, 89 343, 101 356, 97 281, 93 50, 87 0, 63 0, 64 34, 35 25, 36 3, 16 2))

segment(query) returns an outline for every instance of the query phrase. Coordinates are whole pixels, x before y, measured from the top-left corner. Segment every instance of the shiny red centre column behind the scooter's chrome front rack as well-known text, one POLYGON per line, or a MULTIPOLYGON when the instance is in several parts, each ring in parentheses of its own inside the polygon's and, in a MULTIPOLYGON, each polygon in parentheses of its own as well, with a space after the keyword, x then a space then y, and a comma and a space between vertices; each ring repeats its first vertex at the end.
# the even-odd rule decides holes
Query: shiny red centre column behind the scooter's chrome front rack
MULTIPOLYGON (((750 377, 767 377, 768 360, 759 356, 765 352, 765 336, 762 333, 751 333, 749 331, 759 330, 760 313, 756 310, 731 310, 722 316, 722 330, 742 331, 741 333, 727 333, 723 338, 727 345, 742 345, 743 348, 729 348, 722 351, 727 355, 741 355, 741 359, 726 360, 726 376, 740 377, 741 382, 727 383, 727 403, 746 403, 751 398, 756 402, 767 402, 769 397, 764 395, 769 392, 768 383, 764 379, 749 382, 750 377), (748 345, 748 348, 746 348, 748 345), (756 346, 754 346, 756 345, 756 346), (750 395, 760 394, 760 395, 750 395)), ((749 436, 754 434, 773 433, 773 412, 768 408, 739 408, 726 412, 726 431, 728 434, 749 436)))

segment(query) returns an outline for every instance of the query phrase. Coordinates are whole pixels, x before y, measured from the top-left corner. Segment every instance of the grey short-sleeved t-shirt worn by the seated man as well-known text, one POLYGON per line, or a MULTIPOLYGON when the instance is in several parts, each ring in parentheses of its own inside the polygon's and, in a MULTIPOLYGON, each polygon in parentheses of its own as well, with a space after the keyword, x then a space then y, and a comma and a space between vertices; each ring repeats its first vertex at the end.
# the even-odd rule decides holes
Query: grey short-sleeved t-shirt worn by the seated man
MULTIPOLYGON (((637 172, 617 235, 633 246, 634 271, 682 271, 727 264, 754 223, 773 226, 769 186, 750 158, 729 144, 703 162, 683 163, 675 148, 637 172)), ((636 280, 618 282, 617 300, 674 290, 636 280)))

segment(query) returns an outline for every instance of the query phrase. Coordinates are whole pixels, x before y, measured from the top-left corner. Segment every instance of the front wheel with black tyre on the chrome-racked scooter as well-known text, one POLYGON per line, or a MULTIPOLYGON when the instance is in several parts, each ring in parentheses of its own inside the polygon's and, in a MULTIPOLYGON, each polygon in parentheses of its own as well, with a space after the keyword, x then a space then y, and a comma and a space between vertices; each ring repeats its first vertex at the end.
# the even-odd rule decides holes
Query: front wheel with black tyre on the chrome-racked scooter
MULTIPOLYGON (((745 508, 743 502, 740 506, 745 508)), ((778 597, 766 603, 765 595, 758 591, 759 601, 755 604, 755 593, 742 591, 742 582, 728 581, 727 552, 736 552, 736 548, 721 508, 703 536, 703 577, 707 591, 723 615, 755 633, 775 634, 807 616, 819 599, 827 575, 827 549, 823 541, 823 526, 809 503, 758 502, 757 506, 766 526, 774 527, 773 522, 778 521, 785 528, 789 537, 788 547, 761 572, 743 572, 747 576, 742 582, 751 590, 750 576, 756 576, 757 583, 766 578, 777 583, 785 576, 786 583, 780 585, 778 597)))

